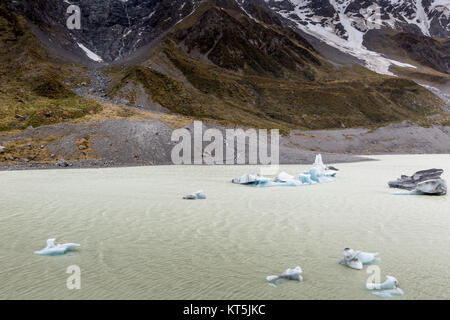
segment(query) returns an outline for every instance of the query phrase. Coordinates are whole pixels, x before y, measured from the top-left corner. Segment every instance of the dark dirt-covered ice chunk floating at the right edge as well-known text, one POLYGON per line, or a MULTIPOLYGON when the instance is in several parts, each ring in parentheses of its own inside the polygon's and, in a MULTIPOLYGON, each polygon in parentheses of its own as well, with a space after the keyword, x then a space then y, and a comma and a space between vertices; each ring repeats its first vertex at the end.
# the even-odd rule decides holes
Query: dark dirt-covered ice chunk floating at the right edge
POLYGON ((441 178, 442 169, 418 171, 411 177, 402 175, 395 181, 390 181, 389 187, 407 190, 407 192, 394 193, 396 195, 436 195, 447 194, 447 183, 441 178))

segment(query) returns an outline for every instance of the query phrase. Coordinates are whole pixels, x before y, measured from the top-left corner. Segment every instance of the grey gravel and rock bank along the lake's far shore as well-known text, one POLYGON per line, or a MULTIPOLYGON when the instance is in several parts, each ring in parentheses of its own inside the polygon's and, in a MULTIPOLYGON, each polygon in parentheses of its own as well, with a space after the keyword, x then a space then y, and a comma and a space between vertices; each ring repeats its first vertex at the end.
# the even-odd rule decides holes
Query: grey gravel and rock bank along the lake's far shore
MULTIPOLYGON (((192 124, 185 128, 192 130, 192 124)), ((172 132, 173 128, 160 119, 108 119, 29 128, 13 136, 0 136, 0 146, 14 143, 16 150, 25 154, 49 156, 17 156, 10 161, 3 151, 0 171, 172 165, 171 152, 176 145, 171 141, 172 132), (58 164, 63 159, 66 164, 58 164)), ((404 122, 376 130, 293 131, 280 137, 282 165, 311 164, 318 153, 329 164, 370 161, 371 155, 446 154, 450 153, 450 127, 424 128, 404 122)))

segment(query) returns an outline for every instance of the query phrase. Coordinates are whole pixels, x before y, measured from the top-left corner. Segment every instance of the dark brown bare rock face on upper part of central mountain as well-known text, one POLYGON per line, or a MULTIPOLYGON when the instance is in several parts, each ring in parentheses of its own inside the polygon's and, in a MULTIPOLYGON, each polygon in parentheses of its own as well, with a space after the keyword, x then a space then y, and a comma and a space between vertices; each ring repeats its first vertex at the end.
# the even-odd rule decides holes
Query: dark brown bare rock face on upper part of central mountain
MULTIPOLYGON (((236 11, 239 12, 239 11, 236 11)), ((199 22, 179 31, 175 38, 188 53, 200 54, 214 64, 231 70, 246 70, 252 74, 283 76, 283 70, 305 72, 309 80, 314 75, 305 66, 321 65, 312 54, 314 49, 296 35, 303 46, 251 19, 221 8, 206 11, 199 22)))

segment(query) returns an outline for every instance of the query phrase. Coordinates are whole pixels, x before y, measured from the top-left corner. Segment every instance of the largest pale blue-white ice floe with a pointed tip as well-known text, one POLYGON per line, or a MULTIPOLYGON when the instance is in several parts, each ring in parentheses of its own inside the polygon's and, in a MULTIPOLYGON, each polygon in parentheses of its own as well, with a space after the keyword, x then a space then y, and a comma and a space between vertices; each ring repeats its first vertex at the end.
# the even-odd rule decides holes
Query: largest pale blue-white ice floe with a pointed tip
POLYGON ((297 187, 316 183, 332 182, 336 179, 337 169, 323 164, 322 155, 317 155, 313 167, 294 177, 286 172, 281 172, 274 179, 269 179, 259 174, 245 174, 238 179, 233 179, 235 184, 251 185, 256 187, 297 187))

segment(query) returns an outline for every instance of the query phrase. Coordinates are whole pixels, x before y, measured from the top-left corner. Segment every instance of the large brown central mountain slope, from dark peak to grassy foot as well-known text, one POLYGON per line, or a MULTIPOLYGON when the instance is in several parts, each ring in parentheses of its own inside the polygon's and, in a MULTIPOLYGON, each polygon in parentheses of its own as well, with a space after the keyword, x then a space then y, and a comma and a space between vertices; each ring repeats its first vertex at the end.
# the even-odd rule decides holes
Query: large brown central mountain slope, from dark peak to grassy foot
POLYGON ((410 80, 336 68, 298 34, 218 4, 201 4, 142 66, 115 72, 110 95, 135 100, 133 83, 172 112, 286 130, 417 119, 442 106, 410 80))

